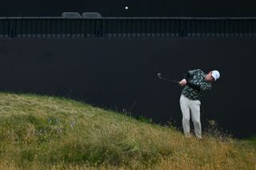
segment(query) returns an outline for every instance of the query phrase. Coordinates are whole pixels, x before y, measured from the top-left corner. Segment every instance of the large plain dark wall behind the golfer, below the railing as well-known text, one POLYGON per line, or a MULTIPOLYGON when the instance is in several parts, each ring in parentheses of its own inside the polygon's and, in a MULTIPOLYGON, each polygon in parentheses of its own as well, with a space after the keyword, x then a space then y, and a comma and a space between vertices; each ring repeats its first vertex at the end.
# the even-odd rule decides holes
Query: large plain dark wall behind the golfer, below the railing
POLYGON ((256 39, 2 39, 0 90, 75 98, 108 109, 176 121, 180 80, 188 69, 218 69, 202 100, 202 123, 215 120, 235 136, 256 134, 256 39))

